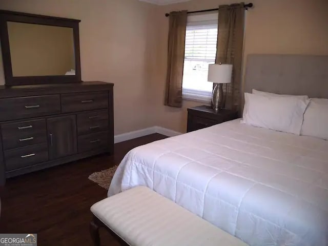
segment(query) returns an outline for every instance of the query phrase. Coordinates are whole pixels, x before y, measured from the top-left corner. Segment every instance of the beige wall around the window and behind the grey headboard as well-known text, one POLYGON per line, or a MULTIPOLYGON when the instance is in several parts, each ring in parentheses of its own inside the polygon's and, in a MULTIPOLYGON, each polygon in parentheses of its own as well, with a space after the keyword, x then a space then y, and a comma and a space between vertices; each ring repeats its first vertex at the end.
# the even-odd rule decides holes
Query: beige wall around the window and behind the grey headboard
MULTIPOLYGON (((166 12, 217 8, 236 0, 193 0, 186 3, 158 7, 153 13, 158 30, 154 70, 152 73, 152 100, 155 125, 185 132, 187 108, 201 105, 184 101, 182 109, 163 106, 168 20, 166 12)), ((254 8, 247 12, 245 24, 244 57, 248 54, 325 54, 328 55, 328 1, 327 0, 252 0, 254 8)))

